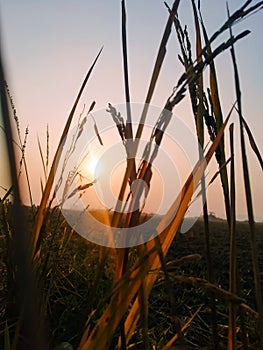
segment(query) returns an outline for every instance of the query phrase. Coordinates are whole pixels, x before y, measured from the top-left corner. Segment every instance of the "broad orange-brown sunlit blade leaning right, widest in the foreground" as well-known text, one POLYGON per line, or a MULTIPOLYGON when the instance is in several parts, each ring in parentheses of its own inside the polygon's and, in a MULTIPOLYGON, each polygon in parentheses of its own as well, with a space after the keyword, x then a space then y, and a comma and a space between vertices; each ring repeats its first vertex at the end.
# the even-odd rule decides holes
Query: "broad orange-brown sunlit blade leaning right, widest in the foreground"
MULTIPOLYGON (((223 135, 226 123, 229 120, 230 115, 227 117, 223 127, 219 131, 215 141, 212 143, 206 157, 196 164, 193 172, 188 177, 185 185, 182 188, 181 194, 177 197, 175 202, 167 214, 163 217, 156 230, 159 234, 160 243, 162 246, 164 256, 167 254, 168 249, 176 235, 177 229, 185 215, 192 195, 200 181, 206 165, 212 158, 215 149, 223 135), (179 205, 179 206, 178 206, 179 205)), ((143 264, 138 268, 125 274, 122 277, 122 288, 119 288, 112 296, 108 307, 98 320, 97 324, 91 331, 88 339, 82 339, 81 350, 93 350, 93 349, 107 349, 110 346, 112 336, 117 329, 123 315, 127 312, 131 301, 138 293, 141 286, 141 281, 144 280, 144 288, 146 295, 150 294, 152 286, 157 278, 156 274, 148 274, 151 269, 158 269, 161 267, 159 255, 155 248, 155 241, 151 240, 145 244, 146 251, 151 252, 145 259, 143 264), (118 310, 118 312, 116 312, 118 310)), ((147 254, 146 253, 146 254, 147 254)), ((136 263, 135 263, 136 266, 136 263)), ((139 318, 139 302, 136 298, 133 307, 129 311, 129 316, 125 322, 125 334, 128 342, 131 337, 132 331, 138 322, 139 318), (132 317, 130 317, 132 315, 132 317)))

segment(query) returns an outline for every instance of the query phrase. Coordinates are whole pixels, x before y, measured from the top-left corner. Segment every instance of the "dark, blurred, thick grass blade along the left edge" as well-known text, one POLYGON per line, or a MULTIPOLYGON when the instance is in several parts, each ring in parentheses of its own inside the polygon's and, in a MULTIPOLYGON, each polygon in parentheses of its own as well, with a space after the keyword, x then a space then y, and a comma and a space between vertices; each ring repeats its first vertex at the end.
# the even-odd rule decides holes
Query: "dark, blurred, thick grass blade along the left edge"
POLYGON ((21 191, 18 183, 16 157, 13 148, 13 134, 8 107, 7 91, 5 85, 5 74, 2 63, 2 52, 0 51, 0 98, 1 113, 5 130, 5 141, 7 145, 8 163, 11 182, 13 186, 13 212, 11 232, 12 237, 9 241, 8 252, 9 266, 12 271, 9 274, 12 278, 12 284, 9 284, 9 293, 14 292, 15 305, 7 302, 6 318, 17 320, 17 330, 20 333, 21 349, 27 344, 28 349, 48 349, 45 342, 43 324, 39 315, 39 298, 35 285, 35 279, 32 271, 31 251, 28 242, 29 229, 24 219, 23 206, 21 201, 21 191), (13 307, 12 307, 13 306, 13 307), (22 327, 20 328, 20 323, 22 327))

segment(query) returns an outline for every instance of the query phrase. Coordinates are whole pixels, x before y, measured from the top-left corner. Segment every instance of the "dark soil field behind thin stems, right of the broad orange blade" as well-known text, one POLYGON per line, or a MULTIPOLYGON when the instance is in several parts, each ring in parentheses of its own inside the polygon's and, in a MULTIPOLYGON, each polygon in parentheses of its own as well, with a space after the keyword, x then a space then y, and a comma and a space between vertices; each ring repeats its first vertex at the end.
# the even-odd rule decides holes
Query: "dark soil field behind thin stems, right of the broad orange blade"
MULTIPOLYGON (((229 247, 230 237, 228 225, 225 220, 212 217, 210 219, 210 245, 212 271, 214 275, 214 284, 224 290, 229 289, 229 247)), ((261 288, 263 288, 263 223, 256 224, 257 248, 259 253, 259 270, 261 272, 261 288)), ((237 222, 236 225, 236 249, 237 249, 237 283, 238 295, 244 298, 245 303, 252 309, 256 309, 255 291, 253 282, 253 266, 250 249, 249 225, 247 222, 237 222)), ((209 290, 203 288, 200 284, 183 283, 177 279, 177 276, 194 276, 207 279, 207 259, 205 249, 205 237, 202 220, 198 220, 190 232, 185 234, 178 233, 176 239, 169 251, 167 260, 174 261, 179 266, 169 273, 170 283, 174 297, 174 310, 181 324, 184 324, 193 313, 201 307, 197 317, 193 320, 190 327, 184 333, 183 342, 188 347, 196 349, 214 349, 211 343, 211 294, 209 290), (196 254, 198 254, 196 256, 196 254), (190 255, 189 259, 183 259, 190 255), (194 261, 191 261, 194 259, 194 261), (184 264, 180 262, 184 261, 184 264), (188 262, 187 262, 188 261, 188 262)), ((166 330, 167 334, 174 332, 170 323, 167 322, 167 315, 171 315, 171 302, 167 290, 167 282, 160 277, 156 283, 151 295, 150 312, 152 325, 152 336, 160 340, 166 338, 164 334, 156 331, 156 324, 162 325, 161 330, 166 330)), ((216 323, 219 333, 219 343, 223 349, 227 344, 227 326, 228 326, 228 303, 220 298, 215 298, 217 309, 216 323)), ((241 346, 241 318, 244 319, 247 342, 255 343, 257 341, 256 321, 253 315, 247 312, 239 313, 237 321, 238 344, 241 346)), ((171 335, 170 335, 171 337, 171 335)), ((169 337, 168 337, 169 338, 169 337)), ((165 342, 164 342, 165 343, 165 342)))

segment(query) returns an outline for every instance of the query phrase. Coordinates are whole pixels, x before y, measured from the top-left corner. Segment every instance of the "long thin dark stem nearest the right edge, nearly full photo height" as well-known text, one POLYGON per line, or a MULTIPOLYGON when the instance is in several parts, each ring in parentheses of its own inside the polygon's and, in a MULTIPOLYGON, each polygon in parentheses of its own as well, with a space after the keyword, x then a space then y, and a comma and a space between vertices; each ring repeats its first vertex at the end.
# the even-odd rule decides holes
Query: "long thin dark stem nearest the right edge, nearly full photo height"
MULTIPOLYGON (((263 2, 261 2, 263 4, 263 2)), ((262 8, 262 7, 261 7, 262 8)), ((229 11, 228 11, 229 15, 229 11)), ((230 38, 233 37, 232 26, 229 25, 230 38)), ((261 278, 259 272, 259 263, 258 263, 258 248, 256 244, 255 237, 255 220, 254 220, 254 211, 253 211, 253 200, 252 192, 250 186, 248 162, 246 155, 246 143, 244 137, 244 126, 243 126, 243 111, 242 111, 242 100, 241 100, 241 89, 239 82, 239 72, 237 67, 237 59, 235 54, 234 43, 231 45, 230 49, 233 69, 234 69, 234 78, 235 78, 235 89, 237 96, 237 109, 239 116, 239 127, 240 127, 240 144, 241 144, 241 155, 242 155, 242 166, 243 166, 243 178, 244 178, 244 187, 246 194, 246 204, 247 204, 247 213, 249 221, 249 230, 250 230, 250 244, 251 244, 251 254, 252 254, 252 263, 253 263, 253 274, 254 274, 254 287, 256 294, 257 309, 259 313, 258 328, 259 328, 259 337, 260 344, 263 344, 263 304, 262 304, 262 290, 261 290, 261 278)))

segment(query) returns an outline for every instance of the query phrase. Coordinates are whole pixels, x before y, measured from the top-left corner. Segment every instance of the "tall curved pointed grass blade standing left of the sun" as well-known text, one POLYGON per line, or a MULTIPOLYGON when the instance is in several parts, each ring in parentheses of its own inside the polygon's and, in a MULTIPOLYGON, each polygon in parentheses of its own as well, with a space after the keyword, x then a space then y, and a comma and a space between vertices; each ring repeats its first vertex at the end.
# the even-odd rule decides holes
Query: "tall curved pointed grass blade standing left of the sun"
POLYGON ((51 193, 51 189, 52 189, 52 186, 53 186, 53 182, 54 182, 54 178, 55 178, 55 173, 56 173, 56 169, 57 169, 57 165, 58 165, 58 162, 60 160, 60 157, 61 157, 61 153, 62 153, 62 150, 63 150, 63 146, 64 146, 64 143, 65 143, 65 140, 66 140, 66 137, 67 137, 67 134, 68 134, 68 131, 69 131, 69 128, 70 128, 70 124, 72 122, 72 119, 73 119, 73 116, 74 116, 74 113, 75 113, 75 110, 76 110, 76 107, 77 107, 77 104, 80 100, 80 97, 83 93, 83 90, 88 82, 88 79, 93 71, 93 68, 102 52, 102 49, 100 49, 98 55, 96 56, 93 64, 91 65, 82 85, 81 85, 81 88, 79 90, 79 93, 77 95, 77 98, 73 104, 73 107, 71 109, 71 112, 69 114, 69 117, 67 119, 67 122, 66 122, 66 125, 64 127, 64 130, 63 130, 63 133, 61 135, 61 138, 60 138, 60 141, 59 141, 59 145, 58 145, 58 148, 56 150, 56 153, 55 153, 55 156, 54 156, 54 159, 53 159, 53 162, 52 162, 52 165, 51 165, 51 169, 50 169, 50 172, 49 172, 49 176, 48 176, 48 179, 47 179, 47 182, 46 182, 46 185, 45 185, 45 189, 44 189, 44 193, 42 195, 42 198, 41 198, 41 202, 40 202, 40 206, 39 206, 39 209, 38 209, 38 212, 37 212, 37 217, 36 217, 36 220, 35 220, 35 226, 34 226, 34 234, 33 234, 33 254, 35 255, 37 253, 37 248, 39 246, 39 238, 40 238, 40 230, 41 230, 41 226, 43 224, 43 220, 44 220, 44 217, 45 217, 45 212, 46 212, 46 206, 47 206, 47 202, 48 202, 48 199, 50 197, 50 193, 51 193))

